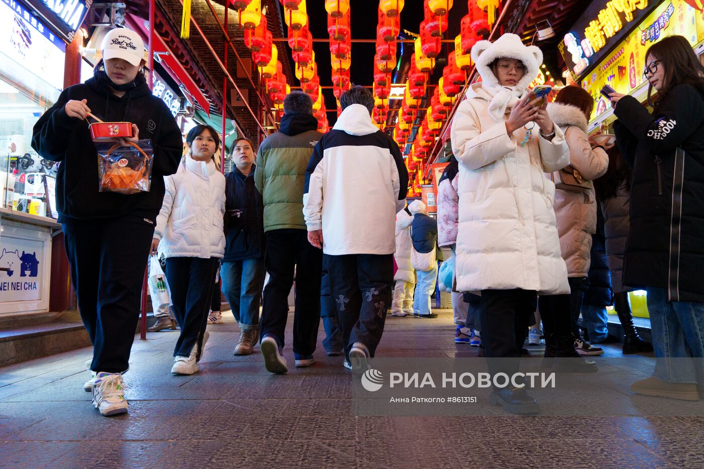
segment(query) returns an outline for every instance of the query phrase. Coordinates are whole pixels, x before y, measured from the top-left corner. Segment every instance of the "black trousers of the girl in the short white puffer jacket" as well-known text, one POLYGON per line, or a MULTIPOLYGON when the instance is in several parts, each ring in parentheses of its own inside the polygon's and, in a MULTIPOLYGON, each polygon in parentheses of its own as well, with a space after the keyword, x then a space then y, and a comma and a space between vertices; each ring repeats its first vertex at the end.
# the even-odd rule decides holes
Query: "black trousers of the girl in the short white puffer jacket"
POLYGON ((215 289, 215 271, 220 259, 199 257, 169 257, 166 259, 166 280, 181 334, 173 356, 189 356, 198 345, 196 360, 201 359, 203 334, 208 325, 210 300, 215 289))

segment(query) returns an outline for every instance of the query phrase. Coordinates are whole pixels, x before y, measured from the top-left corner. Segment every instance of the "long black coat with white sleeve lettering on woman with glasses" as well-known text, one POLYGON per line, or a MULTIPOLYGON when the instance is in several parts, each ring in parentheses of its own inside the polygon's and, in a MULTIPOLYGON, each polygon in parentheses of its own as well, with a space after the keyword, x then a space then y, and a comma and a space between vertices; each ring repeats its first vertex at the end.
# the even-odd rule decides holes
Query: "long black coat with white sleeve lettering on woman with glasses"
POLYGON ((631 96, 615 108, 617 142, 633 168, 624 284, 704 301, 704 99, 678 85, 650 115, 631 96))

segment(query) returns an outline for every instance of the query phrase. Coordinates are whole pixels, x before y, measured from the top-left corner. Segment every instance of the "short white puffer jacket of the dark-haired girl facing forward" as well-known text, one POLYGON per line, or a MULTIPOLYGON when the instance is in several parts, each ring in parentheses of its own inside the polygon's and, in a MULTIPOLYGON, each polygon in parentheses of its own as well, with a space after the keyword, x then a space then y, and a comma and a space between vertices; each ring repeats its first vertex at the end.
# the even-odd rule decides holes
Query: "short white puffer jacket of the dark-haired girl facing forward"
POLYGON ((160 257, 222 258, 225 254, 225 176, 213 161, 187 155, 175 175, 165 176, 154 237, 160 257))

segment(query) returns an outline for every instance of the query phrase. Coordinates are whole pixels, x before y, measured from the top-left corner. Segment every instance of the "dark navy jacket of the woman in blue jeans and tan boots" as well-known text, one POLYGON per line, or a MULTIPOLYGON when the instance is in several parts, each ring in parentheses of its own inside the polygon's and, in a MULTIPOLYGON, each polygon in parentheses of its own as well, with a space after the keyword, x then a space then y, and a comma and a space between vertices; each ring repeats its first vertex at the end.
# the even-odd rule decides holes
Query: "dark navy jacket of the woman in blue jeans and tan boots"
POLYGON ((256 165, 245 176, 237 168, 225 175, 225 257, 222 262, 264 257, 264 204, 254 187, 256 165))

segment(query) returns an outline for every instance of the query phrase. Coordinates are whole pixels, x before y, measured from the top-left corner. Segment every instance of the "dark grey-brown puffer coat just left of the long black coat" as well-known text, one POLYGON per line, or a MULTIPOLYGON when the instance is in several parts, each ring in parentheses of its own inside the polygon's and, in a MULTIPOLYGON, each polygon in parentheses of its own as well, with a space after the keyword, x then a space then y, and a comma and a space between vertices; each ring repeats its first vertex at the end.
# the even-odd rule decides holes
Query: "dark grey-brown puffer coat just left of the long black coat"
POLYGON ((623 285, 623 257, 626 254, 626 240, 631 227, 629 215, 631 194, 624 182, 616 195, 601 201, 601 213, 604 217, 604 235, 606 237, 606 256, 611 271, 611 287, 614 293, 630 292, 632 289, 623 285))

